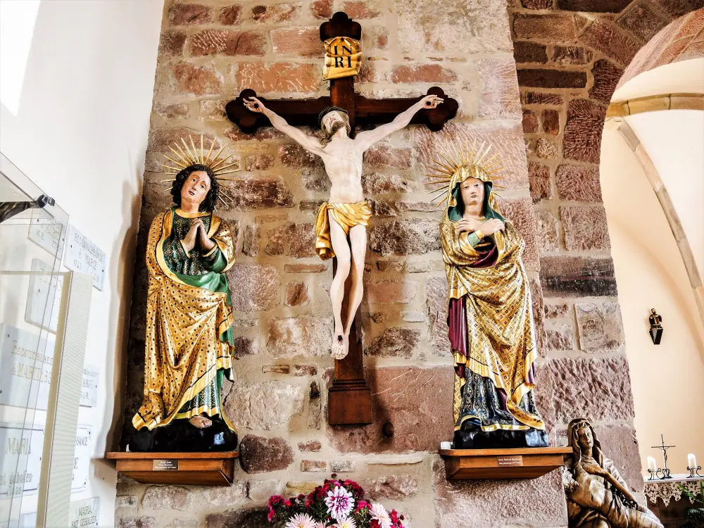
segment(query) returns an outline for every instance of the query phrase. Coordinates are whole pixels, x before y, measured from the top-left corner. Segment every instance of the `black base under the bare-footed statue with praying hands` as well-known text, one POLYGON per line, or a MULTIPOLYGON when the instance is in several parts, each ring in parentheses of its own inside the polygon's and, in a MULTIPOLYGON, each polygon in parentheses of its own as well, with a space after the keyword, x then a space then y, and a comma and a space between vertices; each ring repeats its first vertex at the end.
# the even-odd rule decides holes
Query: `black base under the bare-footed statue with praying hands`
POLYGON ((130 451, 136 453, 210 453, 235 451, 237 433, 230 430, 219 415, 210 418, 213 425, 199 429, 188 420, 173 420, 169 425, 132 429, 130 451))

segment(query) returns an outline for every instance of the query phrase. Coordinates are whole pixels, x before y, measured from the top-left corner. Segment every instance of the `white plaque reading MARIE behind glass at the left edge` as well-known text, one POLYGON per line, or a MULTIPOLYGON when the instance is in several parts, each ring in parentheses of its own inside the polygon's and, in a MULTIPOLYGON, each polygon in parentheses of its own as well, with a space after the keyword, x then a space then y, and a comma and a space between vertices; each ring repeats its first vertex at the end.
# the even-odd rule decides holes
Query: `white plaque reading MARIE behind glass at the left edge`
POLYGON ((0 324, 0 405, 46 410, 56 338, 0 324))

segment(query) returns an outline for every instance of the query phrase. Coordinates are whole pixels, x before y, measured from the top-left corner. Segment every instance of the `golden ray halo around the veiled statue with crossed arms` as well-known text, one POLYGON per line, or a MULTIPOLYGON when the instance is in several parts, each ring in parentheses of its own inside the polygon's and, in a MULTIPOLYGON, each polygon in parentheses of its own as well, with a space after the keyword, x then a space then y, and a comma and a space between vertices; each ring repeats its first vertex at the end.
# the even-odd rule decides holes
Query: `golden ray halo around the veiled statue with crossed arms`
MULTIPOLYGON (((455 205, 451 203, 454 201, 451 196, 452 189, 454 189, 456 184, 464 182, 468 177, 492 183, 505 178, 505 176, 496 176, 496 172, 503 169, 501 167, 501 158, 498 157, 498 153, 488 156, 490 150, 491 144, 487 145, 486 142, 482 142, 477 149, 477 139, 472 142, 472 149, 469 148, 466 142, 464 146, 461 144, 445 146, 440 151, 441 159, 434 161, 435 165, 431 167, 431 170, 434 170, 435 173, 426 176, 425 182, 427 184, 439 186, 429 191, 429 194, 436 193, 430 201, 434 202, 444 196, 438 202, 438 208, 445 201, 448 202, 448 206, 455 205)), ((494 184, 493 188, 505 189, 503 185, 497 184, 494 184)), ((491 194, 501 196, 501 194, 494 192, 491 194)))

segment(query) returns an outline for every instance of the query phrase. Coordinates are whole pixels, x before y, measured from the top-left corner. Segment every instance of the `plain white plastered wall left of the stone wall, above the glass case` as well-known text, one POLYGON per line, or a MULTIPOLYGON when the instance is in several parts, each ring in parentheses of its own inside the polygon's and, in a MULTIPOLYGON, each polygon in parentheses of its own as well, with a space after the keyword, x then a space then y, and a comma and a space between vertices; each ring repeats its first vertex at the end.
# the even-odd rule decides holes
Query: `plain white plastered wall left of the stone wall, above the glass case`
POLYGON ((120 420, 162 11, 163 0, 42 1, 18 106, 0 105, 0 150, 107 253, 106 287, 93 290, 86 350, 87 363, 101 369, 101 390, 98 406, 79 416, 79 424, 94 428, 94 460, 87 491, 72 497, 99 496, 101 526, 113 525, 116 474, 102 458, 120 420))

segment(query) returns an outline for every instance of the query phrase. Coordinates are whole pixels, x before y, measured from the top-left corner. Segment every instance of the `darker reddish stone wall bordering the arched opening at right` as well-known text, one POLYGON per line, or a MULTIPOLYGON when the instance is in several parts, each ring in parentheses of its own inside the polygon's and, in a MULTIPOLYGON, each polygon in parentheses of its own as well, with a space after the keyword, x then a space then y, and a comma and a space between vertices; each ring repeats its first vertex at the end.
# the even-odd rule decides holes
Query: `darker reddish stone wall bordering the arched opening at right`
MULTIPOLYGON (((509 8, 538 225, 548 368, 558 395, 556 431, 562 436, 574 417, 593 420, 605 452, 639 493, 634 406, 599 182, 601 134, 611 95, 636 52, 674 18, 702 5, 515 0, 509 8)), ((703 24, 700 9, 661 34, 677 47, 703 24)), ((658 60, 679 51, 668 48, 658 60)))

